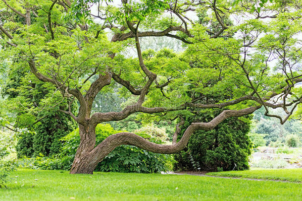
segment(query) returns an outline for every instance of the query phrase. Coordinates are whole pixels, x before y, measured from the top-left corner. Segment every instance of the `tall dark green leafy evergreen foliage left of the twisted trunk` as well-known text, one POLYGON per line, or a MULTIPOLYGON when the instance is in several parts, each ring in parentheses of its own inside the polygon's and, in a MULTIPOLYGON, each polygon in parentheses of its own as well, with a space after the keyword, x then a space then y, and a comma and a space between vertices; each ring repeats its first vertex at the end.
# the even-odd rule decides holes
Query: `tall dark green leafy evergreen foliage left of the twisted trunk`
MULTIPOLYGON (((8 76, 3 78, 1 95, 6 99, 6 110, 15 116, 14 127, 28 128, 28 132, 19 136, 16 147, 18 157, 58 153, 61 147, 58 139, 75 127, 69 115, 56 111, 68 107, 67 101, 59 100, 55 89, 36 80, 28 69, 16 63, 10 65, 6 68, 8 76), (51 103, 54 106, 50 106, 51 103)), ((72 109, 76 108, 77 105, 73 104, 72 109)))

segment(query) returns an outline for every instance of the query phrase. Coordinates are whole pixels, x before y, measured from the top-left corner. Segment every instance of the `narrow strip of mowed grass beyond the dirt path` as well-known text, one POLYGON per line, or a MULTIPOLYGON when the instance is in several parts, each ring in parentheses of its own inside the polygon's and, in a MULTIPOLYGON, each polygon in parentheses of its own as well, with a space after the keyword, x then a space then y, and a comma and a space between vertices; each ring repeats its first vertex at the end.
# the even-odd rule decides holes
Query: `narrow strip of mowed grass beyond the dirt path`
POLYGON ((272 179, 302 182, 302 168, 297 169, 258 169, 246 171, 210 172, 207 175, 222 177, 243 177, 252 179, 272 179))

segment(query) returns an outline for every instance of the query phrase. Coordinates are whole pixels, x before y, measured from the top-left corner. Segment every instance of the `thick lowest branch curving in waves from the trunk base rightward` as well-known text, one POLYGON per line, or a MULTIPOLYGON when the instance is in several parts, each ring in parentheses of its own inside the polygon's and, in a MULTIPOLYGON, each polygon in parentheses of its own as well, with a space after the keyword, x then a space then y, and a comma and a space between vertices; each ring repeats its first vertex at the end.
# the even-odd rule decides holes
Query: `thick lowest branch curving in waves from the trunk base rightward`
MULTIPOLYGON (((155 152, 155 153, 165 153, 165 154, 172 154, 178 151, 181 151, 186 147, 190 136, 198 130, 212 130, 218 124, 229 117, 241 117, 244 115, 252 114, 254 111, 259 109, 260 107, 250 107, 242 110, 224 110, 221 112, 217 117, 212 119, 208 123, 192 123, 185 133, 183 134, 182 138, 175 144, 167 145, 167 144, 156 144, 153 143, 137 134, 133 133, 118 133, 113 134, 105 138, 100 144, 98 144, 92 151, 86 154, 87 163, 78 164, 77 168, 81 168, 81 165, 86 168, 86 173, 92 174, 95 167, 98 165, 102 159, 108 155, 115 147, 123 144, 133 145, 147 151, 155 152), (90 169, 91 168, 91 169, 90 169)), ((71 174, 77 173, 77 170, 72 168, 70 171, 71 174)))

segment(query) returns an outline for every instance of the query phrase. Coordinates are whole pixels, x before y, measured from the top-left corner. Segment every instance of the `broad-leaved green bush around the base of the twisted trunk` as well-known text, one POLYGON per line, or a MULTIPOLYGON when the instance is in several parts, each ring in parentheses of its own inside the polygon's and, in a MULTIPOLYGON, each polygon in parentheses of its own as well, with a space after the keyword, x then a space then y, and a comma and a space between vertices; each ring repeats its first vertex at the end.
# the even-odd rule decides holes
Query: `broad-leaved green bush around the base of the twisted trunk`
MULTIPOLYGON (((115 131, 109 124, 99 124, 96 128, 96 144, 101 143, 107 136, 121 131, 115 131)), ((161 140, 151 137, 151 135, 140 133, 140 136, 155 143, 162 143, 161 140)), ((69 170, 76 149, 80 144, 79 129, 60 139, 63 146, 60 153, 52 157, 43 155, 35 158, 21 159, 21 165, 28 168, 40 168, 49 170, 69 170)), ((104 172, 138 172, 156 173, 168 171, 172 168, 173 158, 171 155, 152 153, 135 146, 121 145, 116 147, 98 164, 95 171, 104 172)))

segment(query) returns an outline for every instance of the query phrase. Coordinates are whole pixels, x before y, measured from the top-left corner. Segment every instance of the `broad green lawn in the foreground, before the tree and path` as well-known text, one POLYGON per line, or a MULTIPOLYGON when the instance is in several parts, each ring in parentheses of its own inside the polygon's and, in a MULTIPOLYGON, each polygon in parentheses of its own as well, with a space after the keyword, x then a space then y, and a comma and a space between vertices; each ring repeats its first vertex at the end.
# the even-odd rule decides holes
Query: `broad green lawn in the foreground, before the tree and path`
POLYGON ((302 184, 191 175, 95 173, 20 169, 2 201, 301 200, 302 184))

